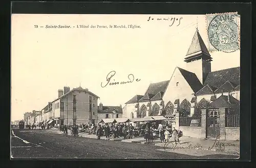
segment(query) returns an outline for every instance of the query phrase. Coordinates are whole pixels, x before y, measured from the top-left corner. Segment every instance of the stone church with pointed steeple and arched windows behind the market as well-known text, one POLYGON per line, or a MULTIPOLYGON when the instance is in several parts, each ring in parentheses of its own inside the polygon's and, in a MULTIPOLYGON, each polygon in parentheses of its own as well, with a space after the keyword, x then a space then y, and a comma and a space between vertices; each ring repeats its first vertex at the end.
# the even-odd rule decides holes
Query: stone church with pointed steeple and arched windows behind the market
MULTIPOLYGON (((177 113, 179 117, 197 117, 206 107, 238 105, 240 67, 211 71, 211 61, 214 58, 196 30, 184 57, 186 68, 176 67, 169 80, 151 83, 144 95, 135 95, 127 101, 123 117, 161 115, 175 120, 177 113)), ((218 113, 209 115, 215 117, 218 113)))

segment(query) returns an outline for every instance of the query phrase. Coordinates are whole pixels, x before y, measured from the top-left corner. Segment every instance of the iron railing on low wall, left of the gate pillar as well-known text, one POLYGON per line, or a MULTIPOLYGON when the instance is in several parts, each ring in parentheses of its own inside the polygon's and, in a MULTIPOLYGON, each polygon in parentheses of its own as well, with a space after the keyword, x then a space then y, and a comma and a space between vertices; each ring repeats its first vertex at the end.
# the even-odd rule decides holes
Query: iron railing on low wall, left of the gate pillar
POLYGON ((179 125, 181 127, 201 127, 201 117, 180 117, 179 125))

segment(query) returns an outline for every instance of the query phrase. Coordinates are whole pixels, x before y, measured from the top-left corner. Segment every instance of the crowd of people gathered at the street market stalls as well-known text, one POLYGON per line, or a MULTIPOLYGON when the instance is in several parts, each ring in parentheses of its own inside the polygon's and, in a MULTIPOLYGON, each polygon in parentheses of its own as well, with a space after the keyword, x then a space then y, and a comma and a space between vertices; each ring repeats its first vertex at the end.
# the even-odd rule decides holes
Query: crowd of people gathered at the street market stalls
POLYGON ((101 123, 97 126, 94 124, 80 124, 75 126, 61 125, 60 131, 63 134, 68 134, 68 129, 71 130, 71 135, 78 136, 78 132, 87 132, 95 134, 98 139, 102 136, 106 138, 119 138, 124 139, 133 138, 134 136, 144 136, 147 144, 153 143, 155 137, 160 137, 161 142, 168 142, 170 137, 174 137, 175 143, 179 143, 179 137, 182 136, 182 131, 177 130, 175 127, 172 129, 172 124, 162 123, 101 123))

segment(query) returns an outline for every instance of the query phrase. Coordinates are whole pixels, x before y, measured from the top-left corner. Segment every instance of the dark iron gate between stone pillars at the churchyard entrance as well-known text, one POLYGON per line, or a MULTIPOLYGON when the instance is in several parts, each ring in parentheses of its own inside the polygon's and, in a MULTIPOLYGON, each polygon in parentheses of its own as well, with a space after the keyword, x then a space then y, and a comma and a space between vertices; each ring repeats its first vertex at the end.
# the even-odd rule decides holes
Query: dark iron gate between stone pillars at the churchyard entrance
POLYGON ((208 117, 207 118, 207 138, 217 138, 220 135, 220 117, 208 117))

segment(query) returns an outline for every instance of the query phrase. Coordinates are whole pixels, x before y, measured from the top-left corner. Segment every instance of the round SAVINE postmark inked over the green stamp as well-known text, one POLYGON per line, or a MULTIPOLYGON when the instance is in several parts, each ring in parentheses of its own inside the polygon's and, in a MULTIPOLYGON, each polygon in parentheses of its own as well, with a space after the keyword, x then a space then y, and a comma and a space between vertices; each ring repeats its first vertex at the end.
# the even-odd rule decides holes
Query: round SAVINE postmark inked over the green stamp
POLYGON ((208 26, 208 38, 212 46, 223 52, 239 49, 239 27, 236 14, 215 16, 208 26))

